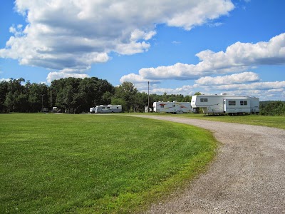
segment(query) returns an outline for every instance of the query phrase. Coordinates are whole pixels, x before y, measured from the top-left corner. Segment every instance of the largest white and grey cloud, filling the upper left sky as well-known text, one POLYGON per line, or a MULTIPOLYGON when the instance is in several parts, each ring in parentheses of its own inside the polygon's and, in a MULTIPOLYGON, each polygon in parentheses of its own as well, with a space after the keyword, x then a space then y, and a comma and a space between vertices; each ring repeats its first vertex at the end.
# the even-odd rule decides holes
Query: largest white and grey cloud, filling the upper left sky
POLYGON ((27 25, 12 26, 1 58, 29 66, 84 71, 108 54, 147 51, 157 24, 190 30, 234 9, 231 1, 16 0, 27 25))

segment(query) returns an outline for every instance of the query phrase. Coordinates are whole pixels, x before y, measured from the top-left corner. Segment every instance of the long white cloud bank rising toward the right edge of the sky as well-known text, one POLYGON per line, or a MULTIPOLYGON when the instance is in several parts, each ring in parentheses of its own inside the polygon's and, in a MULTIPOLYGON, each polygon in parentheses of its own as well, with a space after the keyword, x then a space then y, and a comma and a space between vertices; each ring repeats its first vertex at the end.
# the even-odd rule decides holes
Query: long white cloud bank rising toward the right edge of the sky
MULTIPOLYGON (((136 78, 145 79, 196 79, 214 74, 246 71, 260 65, 278 65, 285 63, 285 33, 274 36, 268 42, 257 44, 237 42, 227 47, 226 51, 205 50, 196 56, 197 64, 176 63, 172 66, 141 68, 136 78)), ((130 75, 133 76, 133 73, 130 75)), ((127 78, 127 77, 125 77, 127 78)))

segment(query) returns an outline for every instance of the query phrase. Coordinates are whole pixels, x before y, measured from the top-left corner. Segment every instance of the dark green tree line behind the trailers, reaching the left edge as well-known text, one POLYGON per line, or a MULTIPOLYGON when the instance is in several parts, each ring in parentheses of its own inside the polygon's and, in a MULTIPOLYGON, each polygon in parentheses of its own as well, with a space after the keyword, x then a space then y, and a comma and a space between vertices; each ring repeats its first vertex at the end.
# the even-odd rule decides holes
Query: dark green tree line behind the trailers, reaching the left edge
POLYGON ((163 95, 139 92, 130 82, 113 86, 96 77, 61 78, 45 83, 30 83, 24 78, 0 82, 0 112, 38 112, 53 106, 67 113, 88 112, 98 105, 122 105, 124 112, 143 112, 154 101, 190 102, 191 96, 164 93, 163 95))

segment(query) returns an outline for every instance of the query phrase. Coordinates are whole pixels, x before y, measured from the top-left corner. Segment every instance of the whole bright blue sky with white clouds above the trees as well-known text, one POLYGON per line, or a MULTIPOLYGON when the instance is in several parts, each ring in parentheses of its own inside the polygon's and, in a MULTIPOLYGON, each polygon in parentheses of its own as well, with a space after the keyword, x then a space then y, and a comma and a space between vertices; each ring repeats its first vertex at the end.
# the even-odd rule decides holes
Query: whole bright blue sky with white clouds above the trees
POLYGON ((284 0, 4 0, 0 81, 285 101, 284 0))

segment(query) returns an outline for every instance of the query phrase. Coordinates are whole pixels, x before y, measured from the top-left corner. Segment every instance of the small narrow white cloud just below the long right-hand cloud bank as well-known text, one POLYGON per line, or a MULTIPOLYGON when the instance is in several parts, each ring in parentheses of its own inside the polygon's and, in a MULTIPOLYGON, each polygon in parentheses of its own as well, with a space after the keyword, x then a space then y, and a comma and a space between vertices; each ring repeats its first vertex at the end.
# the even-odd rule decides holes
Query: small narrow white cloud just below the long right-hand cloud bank
POLYGON ((197 79, 195 82, 199 85, 228 85, 233 83, 244 83, 244 82, 253 82, 259 81, 260 78, 257 73, 254 72, 243 72, 243 73, 234 73, 227 76, 205 76, 197 79))

